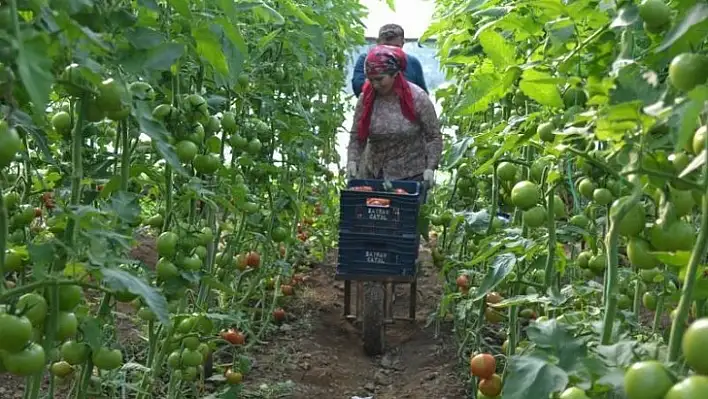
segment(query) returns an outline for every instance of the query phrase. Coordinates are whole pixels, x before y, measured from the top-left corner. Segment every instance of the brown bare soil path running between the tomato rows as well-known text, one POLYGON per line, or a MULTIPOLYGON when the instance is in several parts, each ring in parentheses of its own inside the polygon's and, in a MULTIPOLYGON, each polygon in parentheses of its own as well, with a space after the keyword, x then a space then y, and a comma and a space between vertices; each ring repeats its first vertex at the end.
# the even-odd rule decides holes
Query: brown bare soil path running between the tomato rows
MULTIPOLYGON (((336 257, 333 257, 336 259, 336 257)), ((430 251, 421 249, 415 322, 396 321, 386 330, 386 353, 368 357, 358 328, 343 319, 344 284, 334 280, 335 261, 312 269, 300 291, 295 319, 255 354, 248 385, 291 381, 294 399, 462 399, 462 371, 450 327, 426 327, 440 301, 441 285, 430 251)), ((352 284, 352 297, 354 297, 352 284)), ((408 286, 397 287, 394 313, 408 314, 408 286)), ((353 305, 352 305, 353 308, 353 305)))

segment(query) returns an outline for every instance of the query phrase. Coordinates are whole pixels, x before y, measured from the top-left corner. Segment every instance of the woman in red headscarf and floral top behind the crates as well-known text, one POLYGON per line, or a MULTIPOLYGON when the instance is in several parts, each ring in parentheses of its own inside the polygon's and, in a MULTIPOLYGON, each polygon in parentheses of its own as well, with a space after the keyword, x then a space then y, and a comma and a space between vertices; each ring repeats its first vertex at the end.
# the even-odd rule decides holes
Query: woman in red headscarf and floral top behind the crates
POLYGON ((366 56, 367 81, 349 140, 349 177, 434 184, 440 123, 427 93, 404 78, 406 64, 399 47, 378 45, 366 56))

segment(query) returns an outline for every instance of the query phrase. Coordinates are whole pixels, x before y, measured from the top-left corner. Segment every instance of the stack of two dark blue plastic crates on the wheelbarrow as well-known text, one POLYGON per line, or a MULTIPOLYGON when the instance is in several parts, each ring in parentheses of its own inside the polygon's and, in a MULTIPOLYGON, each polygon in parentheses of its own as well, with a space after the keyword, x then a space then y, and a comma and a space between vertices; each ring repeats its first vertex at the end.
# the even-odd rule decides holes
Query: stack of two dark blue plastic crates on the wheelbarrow
POLYGON ((425 187, 414 181, 390 183, 399 193, 385 190, 384 180, 351 180, 342 190, 338 278, 415 276, 425 187))

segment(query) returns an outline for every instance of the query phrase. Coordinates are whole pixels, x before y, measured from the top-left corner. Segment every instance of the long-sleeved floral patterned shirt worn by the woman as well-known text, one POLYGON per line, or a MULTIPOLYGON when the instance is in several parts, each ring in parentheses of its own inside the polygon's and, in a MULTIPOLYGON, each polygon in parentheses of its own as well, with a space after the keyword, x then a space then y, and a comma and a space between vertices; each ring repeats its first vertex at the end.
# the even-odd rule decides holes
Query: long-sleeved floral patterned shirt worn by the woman
POLYGON ((348 148, 348 162, 356 162, 357 178, 406 180, 426 169, 437 169, 442 154, 440 121, 428 94, 415 84, 408 84, 418 121, 411 122, 403 116, 398 97, 378 97, 365 143, 357 137, 357 122, 363 109, 359 97, 348 148))

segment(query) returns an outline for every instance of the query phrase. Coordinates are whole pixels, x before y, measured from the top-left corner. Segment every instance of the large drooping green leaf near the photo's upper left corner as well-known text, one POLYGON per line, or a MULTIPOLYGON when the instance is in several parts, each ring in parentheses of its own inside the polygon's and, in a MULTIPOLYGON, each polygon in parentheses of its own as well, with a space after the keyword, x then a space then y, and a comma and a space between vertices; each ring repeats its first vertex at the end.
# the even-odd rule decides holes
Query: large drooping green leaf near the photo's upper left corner
POLYGON ((35 111, 41 115, 45 112, 54 82, 49 45, 49 37, 41 33, 21 38, 17 43, 17 72, 35 111))

